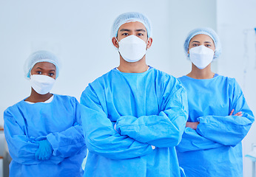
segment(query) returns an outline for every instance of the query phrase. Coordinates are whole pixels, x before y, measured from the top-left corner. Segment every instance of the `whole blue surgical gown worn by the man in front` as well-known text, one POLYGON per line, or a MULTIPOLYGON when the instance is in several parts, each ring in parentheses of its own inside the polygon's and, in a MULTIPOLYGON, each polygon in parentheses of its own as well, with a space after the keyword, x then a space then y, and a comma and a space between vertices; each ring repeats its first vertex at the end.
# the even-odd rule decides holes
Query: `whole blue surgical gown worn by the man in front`
POLYGON ((112 69, 87 86, 81 104, 89 150, 84 176, 180 176, 175 146, 188 113, 186 91, 175 77, 154 68, 112 69))

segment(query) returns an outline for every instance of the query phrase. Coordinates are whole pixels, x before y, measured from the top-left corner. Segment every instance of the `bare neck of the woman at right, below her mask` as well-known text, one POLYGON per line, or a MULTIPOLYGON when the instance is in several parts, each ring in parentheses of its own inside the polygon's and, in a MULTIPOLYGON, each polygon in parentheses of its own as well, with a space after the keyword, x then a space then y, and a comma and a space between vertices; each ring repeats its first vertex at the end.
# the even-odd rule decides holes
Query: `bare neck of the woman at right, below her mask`
POLYGON ((211 64, 204 69, 198 69, 198 67, 192 63, 192 70, 187 76, 194 79, 212 79, 215 76, 215 73, 211 70, 211 64))

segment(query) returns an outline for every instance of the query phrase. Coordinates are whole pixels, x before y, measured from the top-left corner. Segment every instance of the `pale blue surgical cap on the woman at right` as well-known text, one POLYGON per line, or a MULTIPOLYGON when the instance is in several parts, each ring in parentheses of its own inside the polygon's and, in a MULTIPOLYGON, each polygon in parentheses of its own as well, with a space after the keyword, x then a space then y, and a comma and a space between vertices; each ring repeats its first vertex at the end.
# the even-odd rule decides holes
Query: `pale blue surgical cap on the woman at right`
POLYGON ((195 35, 208 35, 210 38, 212 38, 212 41, 215 43, 215 55, 213 59, 217 59, 220 56, 221 54, 220 38, 214 30, 208 27, 196 28, 195 30, 192 30, 191 32, 189 32, 189 35, 187 35, 186 41, 184 43, 184 50, 186 55, 189 50, 189 42, 195 35))

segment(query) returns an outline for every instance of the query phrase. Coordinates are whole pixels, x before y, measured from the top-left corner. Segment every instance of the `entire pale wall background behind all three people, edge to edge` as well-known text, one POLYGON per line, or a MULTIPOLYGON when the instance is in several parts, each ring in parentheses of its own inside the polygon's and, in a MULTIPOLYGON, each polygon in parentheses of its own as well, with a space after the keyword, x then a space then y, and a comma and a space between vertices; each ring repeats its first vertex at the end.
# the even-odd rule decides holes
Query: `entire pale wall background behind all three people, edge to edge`
MULTIPOLYGON (((217 5, 213 0, 0 0, 0 125, 3 111, 30 94, 23 64, 36 49, 49 49, 62 60, 53 93, 73 95, 78 100, 88 83, 118 66, 110 29, 115 17, 127 11, 145 13, 152 21, 153 45, 147 63, 176 77, 190 71, 190 62, 183 54, 186 34, 195 27, 218 30, 223 55, 213 70, 235 77, 256 112, 253 31, 248 33, 249 62, 243 74, 243 30, 256 27, 255 7, 254 0, 219 0, 217 5)), ((244 153, 256 143, 255 131, 253 125, 243 141, 244 153)), ((251 164, 248 159, 244 164, 247 177, 251 164)))

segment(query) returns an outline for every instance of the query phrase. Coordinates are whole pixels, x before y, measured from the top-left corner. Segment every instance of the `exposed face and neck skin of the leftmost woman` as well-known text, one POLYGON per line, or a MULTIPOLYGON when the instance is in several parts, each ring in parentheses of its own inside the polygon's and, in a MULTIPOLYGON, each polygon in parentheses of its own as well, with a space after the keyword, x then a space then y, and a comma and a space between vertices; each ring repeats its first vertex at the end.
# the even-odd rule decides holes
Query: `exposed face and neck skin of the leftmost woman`
MULTIPOLYGON (((56 67, 53 63, 48 62, 40 62, 36 63, 35 66, 31 69, 31 75, 33 74, 43 74, 48 77, 52 77, 53 79, 56 78, 56 67)), ((31 94, 30 97, 27 97, 26 101, 32 103, 44 102, 52 97, 53 94, 48 92, 47 94, 38 94, 32 87, 31 87, 31 94)))

